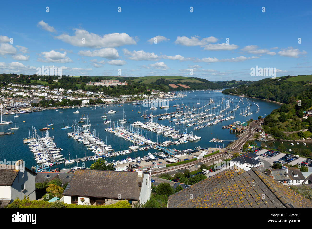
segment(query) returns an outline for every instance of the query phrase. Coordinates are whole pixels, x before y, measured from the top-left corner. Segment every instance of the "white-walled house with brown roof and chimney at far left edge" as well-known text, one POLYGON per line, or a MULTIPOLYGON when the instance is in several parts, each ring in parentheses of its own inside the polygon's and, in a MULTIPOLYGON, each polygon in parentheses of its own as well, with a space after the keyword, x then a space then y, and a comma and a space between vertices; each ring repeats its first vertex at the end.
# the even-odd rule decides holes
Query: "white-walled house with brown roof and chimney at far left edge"
POLYGON ((24 196, 35 200, 35 177, 35 172, 24 167, 23 160, 16 161, 15 165, 0 165, 0 207, 24 196))

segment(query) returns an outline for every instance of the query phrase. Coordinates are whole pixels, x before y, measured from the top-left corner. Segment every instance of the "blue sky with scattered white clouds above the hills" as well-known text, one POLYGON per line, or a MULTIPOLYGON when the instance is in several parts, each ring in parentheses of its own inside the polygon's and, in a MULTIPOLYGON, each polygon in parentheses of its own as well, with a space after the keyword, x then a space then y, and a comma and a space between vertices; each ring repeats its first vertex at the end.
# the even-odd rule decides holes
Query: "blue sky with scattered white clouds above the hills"
POLYGON ((1 5, 0 73, 36 74, 44 65, 64 75, 115 76, 121 69, 121 76, 267 78, 250 75, 257 65, 276 68, 277 76, 311 74, 310 1, 1 5))

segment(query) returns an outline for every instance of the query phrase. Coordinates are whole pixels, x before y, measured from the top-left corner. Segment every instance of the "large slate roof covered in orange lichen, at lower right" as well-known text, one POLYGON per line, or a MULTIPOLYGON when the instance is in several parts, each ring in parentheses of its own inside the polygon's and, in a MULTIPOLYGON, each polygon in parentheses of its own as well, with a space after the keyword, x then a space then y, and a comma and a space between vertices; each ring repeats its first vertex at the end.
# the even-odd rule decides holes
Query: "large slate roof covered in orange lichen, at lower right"
POLYGON ((169 196, 168 208, 312 207, 310 200, 255 167, 240 171, 222 171, 169 196), (193 199, 190 194, 193 194, 193 199))

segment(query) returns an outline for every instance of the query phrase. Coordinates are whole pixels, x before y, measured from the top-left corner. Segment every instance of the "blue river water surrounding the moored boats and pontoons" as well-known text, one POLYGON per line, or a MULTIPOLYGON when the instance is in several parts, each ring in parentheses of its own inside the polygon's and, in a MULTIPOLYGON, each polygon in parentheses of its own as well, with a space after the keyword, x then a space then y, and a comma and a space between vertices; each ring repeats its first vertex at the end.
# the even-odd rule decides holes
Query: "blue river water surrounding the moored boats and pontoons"
MULTIPOLYGON (((189 106, 193 107, 196 106, 198 101, 200 102, 200 105, 197 106, 203 106, 209 100, 209 98, 213 98, 215 101, 215 104, 208 106, 208 108, 211 108, 213 106, 216 106, 217 104, 221 103, 222 97, 224 97, 226 100, 226 97, 231 97, 234 100, 232 100, 234 103, 230 103, 231 110, 236 107, 236 104, 238 102, 237 96, 228 96, 225 94, 222 94, 221 92, 213 92, 213 91, 196 91, 196 92, 191 92, 191 91, 186 91, 187 94, 186 97, 184 98, 178 98, 177 100, 174 101, 169 101, 169 109, 166 111, 164 109, 158 108, 157 110, 150 110, 148 108, 148 111, 146 114, 149 114, 149 112, 153 112, 153 115, 157 114, 162 114, 165 112, 172 112, 176 110, 176 107, 172 107, 172 105, 179 104, 181 106, 182 103, 184 103, 184 106, 189 106), (236 99, 237 98, 237 99, 236 99)), ((212 109, 209 112, 213 111, 215 113, 219 113, 219 110, 224 109, 226 100, 221 104, 221 106, 217 107, 216 109, 212 109), (222 107, 222 108, 221 108, 222 107)), ((226 146, 229 141, 225 141, 222 143, 213 143, 209 142, 210 139, 212 138, 219 138, 222 140, 235 140, 236 135, 233 133, 230 133, 228 129, 222 129, 223 125, 228 125, 232 124, 234 121, 241 121, 241 122, 246 122, 246 120, 249 120, 253 118, 254 120, 257 119, 258 116, 265 117, 266 115, 270 114, 273 109, 276 109, 280 107, 278 104, 275 103, 269 103, 269 102, 264 102, 261 100, 256 100, 256 99, 251 99, 254 102, 251 102, 251 111, 253 112, 252 115, 242 117, 239 115, 241 110, 245 110, 245 107, 247 107, 246 103, 246 98, 243 99, 244 104, 239 104, 240 107, 236 110, 235 119, 231 119, 228 121, 223 121, 218 124, 208 126, 205 128, 202 128, 200 130, 193 130, 194 126, 191 126, 187 129, 185 129, 185 124, 183 125, 175 125, 175 128, 177 130, 180 130, 181 132, 188 132, 193 131, 194 135, 201 136, 201 140, 196 141, 196 142, 188 142, 186 144, 180 144, 180 145, 173 145, 171 148, 176 148, 178 150, 184 150, 184 149, 194 149, 194 147, 201 146, 201 147, 216 147, 216 146, 226 146), (253 103, 258 103, 260 107, 260 112, 256 113, 256 105, 253 103)), ((123 117, 123 109, 125 111, 128 123, 127 125, 130 125, 134 121, 141 121, 141 122, 147 122, 148 119, 144 119, 141 115, 145 113, 145 110, 147 109, 146 107, 143 107, 143 105, 131 105, 131 103, 122 103, 122 107, 106 107, 106 112, 108 112, 110 109, 117 111, 114 114, 108 114, 108 120, 111 120, 112 122, 110 124, 103 124, 103 120, 101 116, 104 114, 105 109, 97 107, 96 109, 92 110, 94 107, 81 107, 80 109, 77 108, 68 108, 68 109, 62 109, 64 112, 59 113, 59 109, 51 109, 51 110, 44 110, 42 112, 32 112, 32 113, 25 113, 25 114, 20 114, 20 117, 16 117, 16 126, 20 127, 18 130, 11 131, 14 134, 11 135, 5 135, 5 136, 0 136, 0 160, 4 161, 5 159, 7 161, 16 161, 19 159, 23 159, 25 161, 26 167, 30 168, 32 165, 37 165, 36 161, 33 159, 33 154, 29 150, 29 146, 23 143, 23 138, 29 137, 29 132, 30 130, 30 135, 32 136, 32 126, 35 127, 40 133, 40 136, 45 135, 45 131, 39 131, 40 128, 46 127, 46 123, 50 123, 50 118, 52 118, 52 123, 54 123, 53 126, 50 126, 50 136, 55 136, 55 142, 57 147, 61 147, 62 153, 66 159, 68 159, 68 151, 70 151, 70 157, 71 159, 73 158, 81 158, 86 156, 94 156, 95 154, 92 153, 92 151, 87 150, 87 147, 84 146, 82 143, 76 141, 73 138, 70 138, 67 136, 67 132, 71 132, 72 129, 67 129, 67 130, 61 130, 61 127, 63 126, 63 121, 65 122, 65 126, 67 126, 67 116, 69 118, 69 125, 72 125, 73 120, 76 120, 77 122, 80 121, 80 118, 82 117, 84 111, 85 114, 89 116, 90 122, 92 124, 90 128, 91 131, 95 129, 96 136, 100 136, 103 141, 106 141, 107 145, 111 145, 112 147, 115 148, 115 151, 119 150, 127 150, 129 146, 132 146, 132 142, 126 141, 123 138, 119 138, 115 134, 112 134, 110 132, 105 131, 105 128, 107 127, 113 127, 113 122, 116 123, 117 125, 117 120, 122 119, 123 117), (138 114, 138 110, 141 108, 142 113, 138 114), (79 110, 80 113, 74 114, 73 112, 79 110), (25 122, 23 122, 25 121, 25 122)), ((229 110, 229 109, 228 109, 229 110)), ((198 111, 198 109, 197 109, 198 111)), ((200 112, 202 109, 200 109, 200 112)), ((204 110, 203 110, 204 112, 204 110)), ((234 115, 234 112, 232 112, 230 115, 234 115)), ((226 115, 227 116, 227 115, 226 115)), ((183 117, 183 116, 182 116, 183 117)), ((12 126, 14 126, 14 115, 5 115, 2 116, 3 120, 11 120, 13 123, 9 125, 1 125, 0 126, 0 132, 7 132, 8 129, 12 126)), ((160 124, 164 125, 174 125, 174 122, 170 122, 169 120, 171 119, 165 119, 165 120, 158 120, 157 118, 153 118, 154 122, 158 122, 160 124)), ((86 120, 85 120, 86 121, 86 120)), ((86 122, 85 122, 86 123, 86 122)), ((84 123, 82 123, 84 124, 84 123)), ((205 125, 203 123, 202 125, 205 125)), ((152 141, 167 141, 167 140, 173 140, 172 138, 164 138, 163 135, 157 135, 154 132, 147 131, 145 129, 141 129, 139 127, 135 127, 134 129, 142 131, 142 135, 145 134, 147 138, 151 139, 152 141)), ((131 126, 132 130, 132 126, 131 126)), ((150 149, 149 152, 155 152, 155 150, 150 149)), ((135 157, 139 155, 140 157, 144 155, 147 155, 148 151, 141 151, 138 150, 138 152, 133 152, 128 155, 119 155, 113 158, 109 158, 108 160, 119 160, 119 159, 125 159, 127 157, 135 157)), ((93 163, 93 161, 87 161, 86 166, 90 166, 93 163)), ((79 164, 78 164, 79 165, 79 164)), ((76 164, 71 164, 67 165, 68 167, 73 167, 76 166, 76 164)), ((81 165, 80 165, 81 166, 81 165)), ((65 167, 65 165, 60 165, 61 168, 65 167)))

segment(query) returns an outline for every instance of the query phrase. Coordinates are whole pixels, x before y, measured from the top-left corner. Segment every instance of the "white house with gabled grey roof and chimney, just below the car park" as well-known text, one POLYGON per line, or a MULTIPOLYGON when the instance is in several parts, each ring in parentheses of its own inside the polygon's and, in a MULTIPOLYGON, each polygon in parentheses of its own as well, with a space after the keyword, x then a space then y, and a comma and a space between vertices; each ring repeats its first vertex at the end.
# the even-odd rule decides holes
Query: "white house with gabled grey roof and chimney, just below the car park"
POLYGON ((285 185, 303 184, 305 177, 300 169, 296 167, 288 168, 282 165, 281 169, 268 170, 267 175, 285 185))

